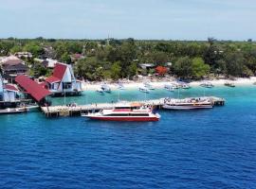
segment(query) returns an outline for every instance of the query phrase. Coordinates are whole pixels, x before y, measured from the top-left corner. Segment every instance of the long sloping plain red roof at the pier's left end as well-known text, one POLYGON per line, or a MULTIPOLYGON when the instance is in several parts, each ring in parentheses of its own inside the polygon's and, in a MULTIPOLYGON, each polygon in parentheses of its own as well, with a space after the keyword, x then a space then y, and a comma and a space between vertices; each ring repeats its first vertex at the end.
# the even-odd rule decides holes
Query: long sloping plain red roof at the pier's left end
POLYGON ((46 95, 51 94, 43 86, 24 75, 16 77, 15 81, 27 94, 30 94, 37 102, 40 102, 43 98, 46 97, 46 95))

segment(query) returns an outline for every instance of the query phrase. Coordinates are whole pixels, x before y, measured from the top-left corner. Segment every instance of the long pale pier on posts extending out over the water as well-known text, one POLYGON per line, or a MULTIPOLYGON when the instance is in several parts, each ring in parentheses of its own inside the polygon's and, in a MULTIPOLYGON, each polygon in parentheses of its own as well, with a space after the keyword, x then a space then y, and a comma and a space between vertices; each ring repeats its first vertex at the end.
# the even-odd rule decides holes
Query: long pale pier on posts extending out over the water
MULTIPOLYGON (((225 99, 208 96, 214 106, 224 106, 225 99)), ((156 110, 159 110, 164 105, 164 99, 153 99, 153 100, 144 100, 144 101, 125 101, 121 102, 131 104, 137 103, 141 106, 152 106, 156 110)), ((88 105, 77 105, 77 106, 49 106, 49 107, 41 107, 42 112, 46 114, 46 117, 59 117, 59 116, 80 116, 82 113, 88 112, 99 112, 102 109, 113 109, 115 106, 119 105, 118 103, 100 103, 100 104, 88 104, 88 105)))

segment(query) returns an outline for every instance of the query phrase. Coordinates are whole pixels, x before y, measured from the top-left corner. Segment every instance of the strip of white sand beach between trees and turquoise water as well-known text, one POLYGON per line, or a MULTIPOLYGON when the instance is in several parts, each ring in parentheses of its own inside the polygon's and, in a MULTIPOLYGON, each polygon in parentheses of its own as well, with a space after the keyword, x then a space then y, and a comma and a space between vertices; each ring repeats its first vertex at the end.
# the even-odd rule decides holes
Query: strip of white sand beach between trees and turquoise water
MULTIPOLYGON (((200 84, 202 84, 205 81, 210 81, 214 86, 224 86, 225 82, 233 82, 235 85, 243 86, 243 85, 253 85, 254 82, 256 82, 256 77, 250 77, 250 78, 236 78, 235 80, 229 80, 229 79, 213 79, 213 80, 200 80, 200 81, 192 81, 190 82, 190 86, 192 87, 199 87, 200 84)), ((150 81, 153 87, 155 89, 163 88, 165 84, 170 84, 171 82, 174 82, 174 80, 170 81, 150 81)), ((118 82, 117 82, 118 83, 118 82)), ((118 89, 117 83, 108 83, 109 87, 112 90, 118 89)), ((96 91, 97 89, 101 88, 102 82, 82 82, 82 91, 96 91)), ((130 82, 122 82, 125 89, 137 89, 138 87, 144 86, 143 82, 139 81, 130 81, 130 82)))

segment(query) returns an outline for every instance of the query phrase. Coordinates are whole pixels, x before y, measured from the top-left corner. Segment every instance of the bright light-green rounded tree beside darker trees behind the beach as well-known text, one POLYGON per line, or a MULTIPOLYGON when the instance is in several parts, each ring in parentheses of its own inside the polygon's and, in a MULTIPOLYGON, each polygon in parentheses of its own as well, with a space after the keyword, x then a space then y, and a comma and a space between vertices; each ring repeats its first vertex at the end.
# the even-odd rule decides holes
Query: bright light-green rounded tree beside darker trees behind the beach
POLYGON ((192 60, 192 77, 201 78, 210 73, 210 65, 206 64, 202 58, 192 60))

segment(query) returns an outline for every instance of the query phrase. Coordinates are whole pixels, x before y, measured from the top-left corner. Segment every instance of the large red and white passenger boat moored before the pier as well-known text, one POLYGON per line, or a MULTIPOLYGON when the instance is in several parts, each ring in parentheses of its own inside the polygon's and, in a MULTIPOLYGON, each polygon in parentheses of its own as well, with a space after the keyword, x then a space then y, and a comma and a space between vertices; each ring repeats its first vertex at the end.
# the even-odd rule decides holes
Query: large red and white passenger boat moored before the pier
POLYGON ((153 122, 158 121, 160 115, 152 111, 151 108, 135 108, 133 106, 117 106, 112 110, 101 110, 101 112, 82 114, 93 120, 101 121, 133 121, 133 122, 153 122))

